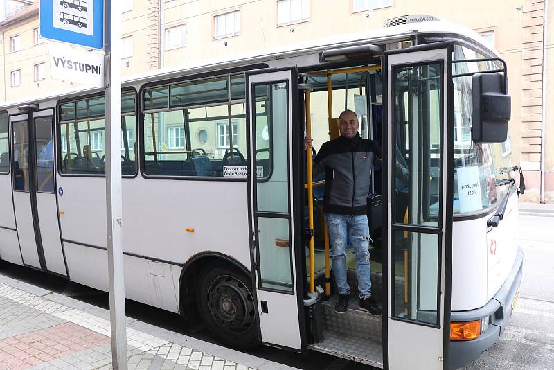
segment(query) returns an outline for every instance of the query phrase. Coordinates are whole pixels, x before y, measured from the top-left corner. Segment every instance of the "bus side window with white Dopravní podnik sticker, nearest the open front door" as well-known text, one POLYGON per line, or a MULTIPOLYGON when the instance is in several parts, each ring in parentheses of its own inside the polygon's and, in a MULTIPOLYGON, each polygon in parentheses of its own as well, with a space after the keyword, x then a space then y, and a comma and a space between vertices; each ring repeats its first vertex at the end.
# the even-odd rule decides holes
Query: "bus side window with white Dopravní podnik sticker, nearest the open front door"
POLYGON ((143 92, 144 173, 246 178, 244 78, 223 76, 143 92), (231 79, 231 91, 229 81, 231 79), (190 107, 188 107, 190 106, 190 107))

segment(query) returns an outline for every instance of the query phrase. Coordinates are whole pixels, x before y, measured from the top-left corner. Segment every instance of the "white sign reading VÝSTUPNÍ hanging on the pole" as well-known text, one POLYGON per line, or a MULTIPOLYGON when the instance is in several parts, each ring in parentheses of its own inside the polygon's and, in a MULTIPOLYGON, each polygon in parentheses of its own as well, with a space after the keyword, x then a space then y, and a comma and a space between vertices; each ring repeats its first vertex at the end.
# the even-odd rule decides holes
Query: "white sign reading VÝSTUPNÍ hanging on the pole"
POLYGON ((52 78, 94 87, 104 84, 102 53, 81 51, 61 44, 49 44, 48 53, 52 78))

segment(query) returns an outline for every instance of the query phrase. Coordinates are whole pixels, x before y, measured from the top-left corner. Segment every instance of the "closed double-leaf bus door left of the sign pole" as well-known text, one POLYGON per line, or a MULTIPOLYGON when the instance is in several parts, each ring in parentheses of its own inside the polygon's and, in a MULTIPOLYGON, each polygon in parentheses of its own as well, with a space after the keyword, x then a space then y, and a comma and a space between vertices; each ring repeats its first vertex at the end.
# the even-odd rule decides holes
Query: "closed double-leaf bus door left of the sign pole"
POLYGON ((53 110, 11 116, 12 188, 26 266, 66 276, 55 196, 53 110))

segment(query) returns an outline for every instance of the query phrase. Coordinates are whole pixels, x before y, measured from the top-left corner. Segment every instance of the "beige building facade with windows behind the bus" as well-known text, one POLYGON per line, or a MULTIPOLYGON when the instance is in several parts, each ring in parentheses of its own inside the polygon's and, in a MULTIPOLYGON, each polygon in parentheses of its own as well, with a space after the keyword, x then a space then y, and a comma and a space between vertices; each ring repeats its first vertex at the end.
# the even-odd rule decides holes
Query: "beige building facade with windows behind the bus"
MULTIPOLYGON (((28 1, 29 2, 29 1, 28 1)), ((553 1, 492 0, 122 0, 123 76, 382 28, 398 15, 432 14, 472 28, 508 63, 513 163, 521 164, 525 200, 554 202, 553 1), (544 10, 545 5, 548 9, 544 10), (545 16, 546 15, 546 22, 545 16), (543 33, 544 27, 549 32, 543 33), (546 37, 543 37, 546 35, 546 37), (548 134, 549 133, 549 134, 548 134), (548 135, 548 136, 547 136, 548 135), (550 148, 550 150, 549 150, 550 148), (543 170, 542 170, 543 169, 543 170), (544 179, 543 179, 544 177, 544 179)), ((0 100, 73 86, 49 76, 38 4, 0 23, 0 100)))

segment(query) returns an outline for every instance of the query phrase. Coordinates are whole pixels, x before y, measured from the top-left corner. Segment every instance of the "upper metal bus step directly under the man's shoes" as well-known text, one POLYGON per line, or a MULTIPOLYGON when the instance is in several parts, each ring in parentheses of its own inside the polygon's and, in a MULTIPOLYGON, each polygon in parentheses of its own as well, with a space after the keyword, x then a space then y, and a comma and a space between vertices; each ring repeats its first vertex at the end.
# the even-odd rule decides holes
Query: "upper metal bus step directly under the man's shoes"
POLYGON ((337 313, 334 305, 339 299, 338 294, 333 294, 328 301, 321 301, 323 313, 323 331, 337 333, 337 335, 357 335, 375 342, 382 341, 381 317, 375 317, 358 308, 358 297, 350 296, 348 310, 337 313))

